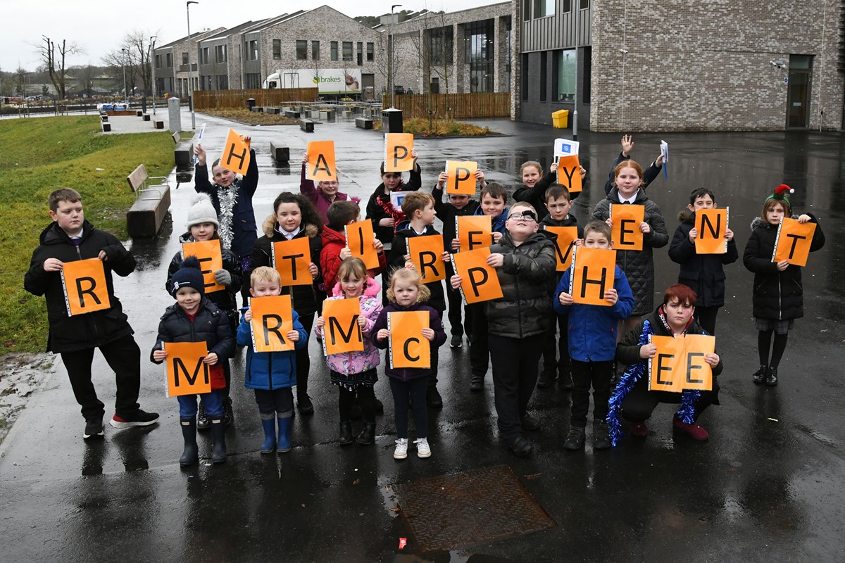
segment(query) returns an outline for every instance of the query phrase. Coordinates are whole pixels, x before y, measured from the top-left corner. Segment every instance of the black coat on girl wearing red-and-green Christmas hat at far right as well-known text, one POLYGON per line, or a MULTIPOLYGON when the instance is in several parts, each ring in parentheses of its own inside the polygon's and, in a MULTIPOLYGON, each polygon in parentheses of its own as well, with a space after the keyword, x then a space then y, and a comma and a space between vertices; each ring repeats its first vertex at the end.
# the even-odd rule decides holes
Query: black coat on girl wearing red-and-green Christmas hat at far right
MULTIPOLYGON (((825 235, 821 225, 816 223, 810 252, 825 246, 825 235)), ((777 240, 777 225, 766 223, 759 217, 751 223, 751 236, 745 245, 743 263, 754 272, 752 310, 755 318, 788 320, 804 317, 804 286, 801 284, 801 267, 790 264, 779 272, 777 264, 771 262, 771 254, 777 240)))

